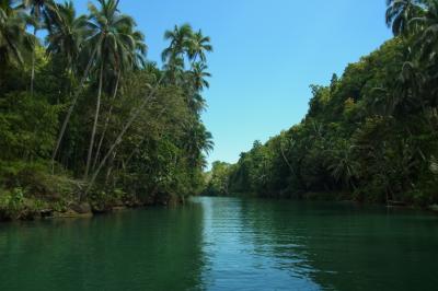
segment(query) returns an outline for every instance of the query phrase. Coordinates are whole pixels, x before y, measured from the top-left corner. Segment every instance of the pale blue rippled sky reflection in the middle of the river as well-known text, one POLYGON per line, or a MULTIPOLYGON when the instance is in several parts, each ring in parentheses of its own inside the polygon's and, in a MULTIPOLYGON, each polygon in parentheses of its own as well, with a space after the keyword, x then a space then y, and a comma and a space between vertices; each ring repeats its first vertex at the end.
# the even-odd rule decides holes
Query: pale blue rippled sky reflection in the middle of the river
POLYGON ((235 198, 195 201, 205 209, 204 253, 209 263, 203 278, 208 290, 320 289, 309 273, 306 256, 285 254, 299 248, 299 242, 274 242, 272 229, 264 224, 269 222, 266 212, 249 210, 245 200, 235 198))

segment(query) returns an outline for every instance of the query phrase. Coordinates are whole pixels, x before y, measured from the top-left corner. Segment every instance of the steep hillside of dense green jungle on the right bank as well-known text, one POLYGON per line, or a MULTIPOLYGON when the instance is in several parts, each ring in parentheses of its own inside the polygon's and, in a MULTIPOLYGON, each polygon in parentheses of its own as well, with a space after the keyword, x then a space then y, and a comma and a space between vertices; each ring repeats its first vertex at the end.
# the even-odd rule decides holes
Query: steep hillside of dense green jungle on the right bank
POLYGON ((394 38, 311 85, 300 124, 216 163, 206 194, 438 202, 438 1, 387 4, 394 38))

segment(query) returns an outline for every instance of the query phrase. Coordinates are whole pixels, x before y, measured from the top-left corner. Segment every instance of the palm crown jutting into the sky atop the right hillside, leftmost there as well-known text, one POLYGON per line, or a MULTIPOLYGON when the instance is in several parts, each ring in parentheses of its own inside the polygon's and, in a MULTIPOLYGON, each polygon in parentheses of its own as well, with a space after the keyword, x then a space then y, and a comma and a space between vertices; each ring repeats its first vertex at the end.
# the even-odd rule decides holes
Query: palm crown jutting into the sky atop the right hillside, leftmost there
POLYGON ((410 21, 422 11, 419 0, 387 0, 387 25, 394 35, 405 35, 410 21))

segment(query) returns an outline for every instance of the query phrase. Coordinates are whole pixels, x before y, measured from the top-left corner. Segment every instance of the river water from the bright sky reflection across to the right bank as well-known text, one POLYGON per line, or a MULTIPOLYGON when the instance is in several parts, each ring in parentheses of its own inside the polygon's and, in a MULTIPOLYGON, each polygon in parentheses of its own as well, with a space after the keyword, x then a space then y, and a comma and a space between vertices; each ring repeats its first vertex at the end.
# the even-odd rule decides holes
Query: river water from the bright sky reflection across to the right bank
POLYGON ((212 289, 434 290, 438 284, 438 219, 428 213, 235 198, 209 203, 206 216, 216 226, 206 236, 217 244, 208 252, 226 258, 208 272, 212 289))

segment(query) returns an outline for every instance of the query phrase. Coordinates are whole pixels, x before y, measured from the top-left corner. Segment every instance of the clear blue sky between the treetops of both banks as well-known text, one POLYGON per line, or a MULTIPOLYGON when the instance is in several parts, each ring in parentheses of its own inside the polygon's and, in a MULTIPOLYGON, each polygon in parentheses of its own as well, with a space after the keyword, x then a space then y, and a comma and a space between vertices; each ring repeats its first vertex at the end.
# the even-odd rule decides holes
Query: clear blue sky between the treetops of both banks
MULTIPOLYGON (((74 0, 83 11, 87 0, 74 0)), ((191 23, 212 39, 203 115, 215 138, 209 162, 237 162, 254 140, 299 123, 310 84, 327 84, 391 37, 384 0, 120 0, 159 60, 163 33, 191 23)))

